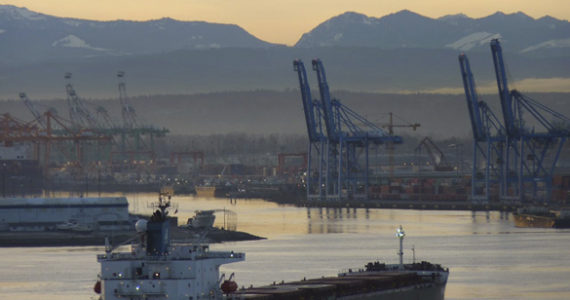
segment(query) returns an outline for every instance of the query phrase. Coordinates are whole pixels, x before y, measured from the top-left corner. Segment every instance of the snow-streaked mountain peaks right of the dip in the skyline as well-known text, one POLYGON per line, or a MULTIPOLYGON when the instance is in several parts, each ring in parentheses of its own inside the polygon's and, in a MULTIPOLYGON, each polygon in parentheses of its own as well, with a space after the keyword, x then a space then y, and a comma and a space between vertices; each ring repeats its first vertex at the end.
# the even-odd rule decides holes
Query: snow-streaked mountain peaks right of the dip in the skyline
POLYGON ((304 34, 296 47, 448 48, 487 50, 489 41, 501 38, 510 51, 569 50, 570 23, 549 16, 533 19, 522 12, 473 19, 464 14, 438 19, 403 10, 381 18, 347 12, 304 34))

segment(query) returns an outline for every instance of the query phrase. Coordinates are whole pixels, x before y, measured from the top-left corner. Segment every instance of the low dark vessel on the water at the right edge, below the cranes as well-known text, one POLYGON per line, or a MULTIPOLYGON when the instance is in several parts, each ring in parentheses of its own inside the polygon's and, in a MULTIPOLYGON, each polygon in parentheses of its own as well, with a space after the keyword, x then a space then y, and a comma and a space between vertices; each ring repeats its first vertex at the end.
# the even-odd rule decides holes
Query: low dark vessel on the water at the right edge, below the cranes
POLYGON ((516 227, 570 228, 570 211, 551 211, 546 207, 519 208, 514 214, 516 227))

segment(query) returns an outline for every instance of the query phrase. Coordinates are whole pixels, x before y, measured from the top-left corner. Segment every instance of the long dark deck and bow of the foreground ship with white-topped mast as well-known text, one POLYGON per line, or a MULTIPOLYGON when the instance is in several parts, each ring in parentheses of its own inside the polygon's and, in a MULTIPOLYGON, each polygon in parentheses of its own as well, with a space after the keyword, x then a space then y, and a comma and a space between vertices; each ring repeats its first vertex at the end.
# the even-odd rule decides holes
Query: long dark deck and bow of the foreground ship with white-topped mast
POLYGON ((364 268, 339 273, 338 276, 282 282, 257 288, 241 289, 233 299, 377 299, 443 300, 449 269, 422 261, 403 263, 404 230, 400 238, 400 263, 369 262, 364 268))

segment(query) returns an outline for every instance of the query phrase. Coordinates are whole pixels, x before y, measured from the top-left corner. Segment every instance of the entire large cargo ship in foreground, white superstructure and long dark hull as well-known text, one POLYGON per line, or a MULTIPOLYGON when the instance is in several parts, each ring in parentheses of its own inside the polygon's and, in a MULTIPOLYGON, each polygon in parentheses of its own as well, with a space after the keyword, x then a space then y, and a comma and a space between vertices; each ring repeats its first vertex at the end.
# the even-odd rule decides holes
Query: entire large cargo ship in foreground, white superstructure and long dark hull
POLYGON ((210 251, 204 243, 171 243, 167 209, 170 198, 159 197, 150 220, 139 220, 127 252, 107 243, 97 255, 101 265, 94 291, 100 300, 117 299, 444 299, 449 271, 427 262, 368 263, 337 277, 304 279, 238 290, 233 274, 220 276, 222 264, 245 260, 244 253, 210 251))

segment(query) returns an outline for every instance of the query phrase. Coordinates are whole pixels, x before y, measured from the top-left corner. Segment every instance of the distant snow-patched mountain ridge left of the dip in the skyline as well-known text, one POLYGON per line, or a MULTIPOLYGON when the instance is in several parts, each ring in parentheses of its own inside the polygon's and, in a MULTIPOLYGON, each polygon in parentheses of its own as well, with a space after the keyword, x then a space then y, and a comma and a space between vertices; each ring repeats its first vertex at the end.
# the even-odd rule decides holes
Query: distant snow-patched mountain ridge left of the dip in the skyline
POLYGON ((88 21, 53 17, 11 5, 0 5, 0 41, 0 60, 4 62, 272 46, 236 25, 168 18, 88 21))

